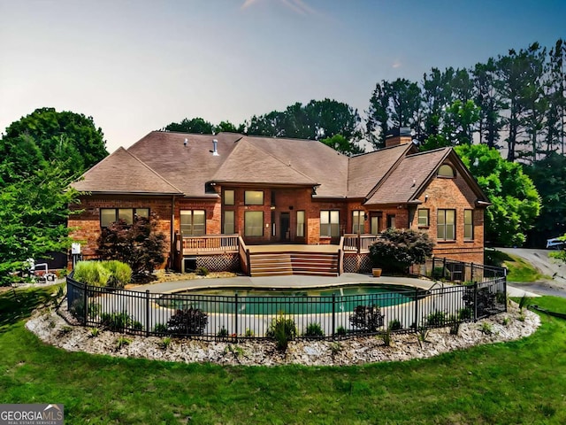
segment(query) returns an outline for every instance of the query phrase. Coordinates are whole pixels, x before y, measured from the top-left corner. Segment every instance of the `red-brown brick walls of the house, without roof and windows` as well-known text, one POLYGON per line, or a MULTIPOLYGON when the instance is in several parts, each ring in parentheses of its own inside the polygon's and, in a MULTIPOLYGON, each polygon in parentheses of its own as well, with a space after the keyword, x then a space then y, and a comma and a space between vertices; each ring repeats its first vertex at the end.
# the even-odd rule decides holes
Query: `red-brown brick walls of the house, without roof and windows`
MULTIPOLYGON (((459 159, 455 156, 441 159, 444 164, 459 159), (452 158, 452 159, 450 159, 452 158)), ((460 163, 452 164, 455 170, 462 170, 460 163)), ((405 173, 406 174, 406 173, 405 173)), ((397 180, 395 180, 397 182, 397 180)), ((207 183, 208 184, 208 183, 207 183)), ((413 185, 415 182, 413 181, 413 185)), ((366 198, 314 196, 311 185, 273 183, 261 186, 255 183, 225 184, 215 182, 213 191, 203 192, 200 197, 182 195, 102 195, 93 194, 81 197, 81 204, 73 209, 79 213, 69 218, 68 225, 73 228, 72 238, 82 243, 82 253, 86 257, 96 256, 97 239, 101 233, 102 208, 149 208, 157 213, 158 229, 164 233, 167 252, 165 264, 172 264, 172 237, 180 233, 180 213, 184 210, 203 210, 205 212, 205 233, 223 233, 226 211, 233 211, 233 233, 243 237, 245 243, 339 243, 340 236, 356 233, 354 216, 363 220, 363 233, 371 234, 388 227, 412 228, 427 232, 436 243, 434 255, 467 262, 483 263, 484 248, 484 206, 478 206, 478 193, 470 176, 456 172, 454 178, 433 175, 416 192, 414 198, 399 204, 365 205, 366 198), (470 185, 471 184, 471 185, 470 185), (472 187, 474 186, 474 187, 472 187), (223 202, 226 190, 233 190, 233 205, 223 202), (246 190, 261 191, 262 205, 246 205, 246 190), (215 196, 216 192, 216 196, 215 196), (418 193, 418 194, 417 194, 418 193), (419 225, 419 210, 428 211, 428 225, 419 225), (455 238, 439 240, 437 216, 439 210, 453 210, 455 214, 455 238), (464 238, 464 212, 470 210, 473 218, 473 237, 464 238), (261 236, 246 235, 246 213, 263 213, 261 236), (298 213, 304 212, 303 235, 297 226, 298 213), (338 212, 338 236, 321 236, 321 212, 338 212)), ((203 185, 204 187, 204 185, 203 185)), ((396 189, 396 188, 394 188, 396 189)), ((371 194, 368 195, 371 197, 371 194)), ((368 201, 369 202, 369 201, 368 201)), ((332 213, 334 216, 335 213, 332 213)), ((331 213, 329 213, 329 217, 331 213)), ((257 230, 257 228, 255 229, 257 230)))

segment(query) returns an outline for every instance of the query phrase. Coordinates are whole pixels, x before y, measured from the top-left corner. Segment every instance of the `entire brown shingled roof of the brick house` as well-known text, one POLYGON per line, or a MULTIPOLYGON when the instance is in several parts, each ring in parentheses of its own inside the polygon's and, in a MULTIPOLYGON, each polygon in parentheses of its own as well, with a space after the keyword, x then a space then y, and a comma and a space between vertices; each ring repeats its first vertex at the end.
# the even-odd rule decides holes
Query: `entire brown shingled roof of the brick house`
MULTIPOLYGON (((206 191, 210 182, 317 186, 314 197, 368 197, 366 204, 398 204, 417 197, 448 154, 461 164, 449 148, 414 151, 414 145, 404 144, 349 158, 312 140, 154 131, 127 151, 120 148, 104 158, 73 186, 89 192, 186 197, 217 197, 206 191), (216 156, 213 140, 218 141, 216 156)), ((462 168, 472 189, 481 194, 462 168)))

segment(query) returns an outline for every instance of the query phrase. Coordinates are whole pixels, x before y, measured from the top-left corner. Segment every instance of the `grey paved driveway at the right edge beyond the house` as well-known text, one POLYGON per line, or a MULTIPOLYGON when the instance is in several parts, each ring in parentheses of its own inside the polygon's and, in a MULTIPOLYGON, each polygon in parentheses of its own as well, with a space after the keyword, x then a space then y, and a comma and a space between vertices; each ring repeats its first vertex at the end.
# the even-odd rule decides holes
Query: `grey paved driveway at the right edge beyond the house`
POLYGON ((496 248, 496 250, 525 259, 546 277, 537 282, 509 281, 509 284, 539 295, 554 295, 566 298, 566 263, 549 258, 548 253, 552 251, 526 248, 496 248))

